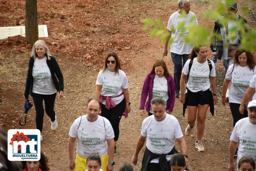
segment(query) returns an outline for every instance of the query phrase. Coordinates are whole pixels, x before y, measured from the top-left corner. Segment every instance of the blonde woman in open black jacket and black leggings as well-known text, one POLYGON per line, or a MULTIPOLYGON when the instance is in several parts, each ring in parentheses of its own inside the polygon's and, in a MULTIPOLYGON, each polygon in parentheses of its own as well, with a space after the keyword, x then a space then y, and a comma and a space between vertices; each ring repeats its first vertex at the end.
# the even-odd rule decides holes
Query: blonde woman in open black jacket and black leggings
POLYGON ((58 98, 62 98, 64 96, 63 89, 64 79, 57 61, 50 55, 49 48, 44 41, 36 41, 29 59, 24 97, 28 99, 30 94, 33 98, 36 128, 41 131, 41 140, 43 139, 44 120, 43 100, 45 112, 50 117, 51 128, 56 130, 58 127, 54 111, 56 90, 58 98))

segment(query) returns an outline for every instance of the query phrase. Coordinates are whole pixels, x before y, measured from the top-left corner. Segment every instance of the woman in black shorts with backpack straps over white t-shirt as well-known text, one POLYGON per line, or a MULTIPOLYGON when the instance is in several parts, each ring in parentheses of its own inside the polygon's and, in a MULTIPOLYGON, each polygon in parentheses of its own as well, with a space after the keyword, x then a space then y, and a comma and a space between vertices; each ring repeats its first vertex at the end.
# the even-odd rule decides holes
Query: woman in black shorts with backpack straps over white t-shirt
POLYGON ((195 120, 198 121, 195 148, 201 152, 204 151, 201 139, 204 133, 207 109, 210 106, 213 115, 214 104, 217 103, 215 75, 215 65, 213 61, 207 59, 207 46, 193 48, 181 74, 180 102, 183 104, 183 110, 187 108, 188 113, 185 136, 191 134, 195 120), (186 95, 184 95, 186 79, 186 95), (212 86, 212 91, 210 86, 212 86))

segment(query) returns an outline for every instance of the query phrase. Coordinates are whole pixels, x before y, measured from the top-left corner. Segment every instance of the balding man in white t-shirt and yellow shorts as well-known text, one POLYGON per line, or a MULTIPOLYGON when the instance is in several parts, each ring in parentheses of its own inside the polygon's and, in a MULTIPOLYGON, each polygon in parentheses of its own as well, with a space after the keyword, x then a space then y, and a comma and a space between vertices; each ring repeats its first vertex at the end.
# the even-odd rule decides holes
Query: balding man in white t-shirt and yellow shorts
POLYGON ((72 124, 68 139, 68 164, 70 170, 86 170, 86 158, 90 153, 99 153, 103 171, 113 171, 114 159, 114 131, 108 119, 99 116, 101 103, 98 99, 87 101, 87 115, 80 116, 72 124), (76 163, 73 152, 76 148, 76 163), (108 154, 107 154, 108 153, 108 154))

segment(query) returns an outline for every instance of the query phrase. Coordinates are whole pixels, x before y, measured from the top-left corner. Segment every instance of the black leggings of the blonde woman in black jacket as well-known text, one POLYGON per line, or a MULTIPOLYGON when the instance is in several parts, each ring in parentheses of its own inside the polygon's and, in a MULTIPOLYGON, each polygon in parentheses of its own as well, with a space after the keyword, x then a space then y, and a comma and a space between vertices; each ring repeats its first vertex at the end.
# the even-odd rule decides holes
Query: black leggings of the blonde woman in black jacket
POLYGON ((33 93, 32 98, 35 104, 35 123, 36 129, 40 130, 42 133, 43 130, 43 121, 44 121, 44 107, 45 112, 50 117, 51 121, 55 121, 55 111, 54 111, 54 102, 55 102, 56 93, 51 95, 37 94, 33 93))

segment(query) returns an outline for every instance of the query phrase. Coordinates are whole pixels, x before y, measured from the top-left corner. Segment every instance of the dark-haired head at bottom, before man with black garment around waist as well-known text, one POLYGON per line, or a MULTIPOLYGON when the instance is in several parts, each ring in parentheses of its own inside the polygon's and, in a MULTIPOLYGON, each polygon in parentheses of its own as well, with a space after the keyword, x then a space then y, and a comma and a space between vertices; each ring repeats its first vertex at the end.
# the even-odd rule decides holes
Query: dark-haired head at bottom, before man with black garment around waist
POLYGON ((180 153, 173 154, 171 161, 171 171, 184 171, 186 168, 186 160, 180 153))

